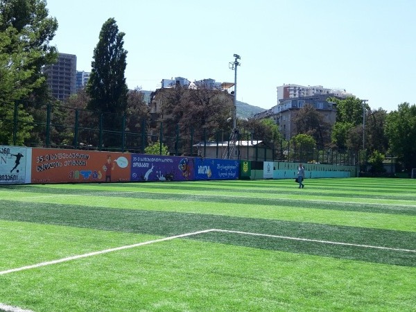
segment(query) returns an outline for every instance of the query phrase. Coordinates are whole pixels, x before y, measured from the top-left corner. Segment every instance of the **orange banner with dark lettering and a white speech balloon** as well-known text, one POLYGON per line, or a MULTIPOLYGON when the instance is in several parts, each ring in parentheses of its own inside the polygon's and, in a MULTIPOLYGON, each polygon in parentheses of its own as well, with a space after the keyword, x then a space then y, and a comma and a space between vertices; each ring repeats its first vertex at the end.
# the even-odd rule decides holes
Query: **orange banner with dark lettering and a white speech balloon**
POLYGON ((130 153, 32 149, 32 183, 127 182, 130 153))

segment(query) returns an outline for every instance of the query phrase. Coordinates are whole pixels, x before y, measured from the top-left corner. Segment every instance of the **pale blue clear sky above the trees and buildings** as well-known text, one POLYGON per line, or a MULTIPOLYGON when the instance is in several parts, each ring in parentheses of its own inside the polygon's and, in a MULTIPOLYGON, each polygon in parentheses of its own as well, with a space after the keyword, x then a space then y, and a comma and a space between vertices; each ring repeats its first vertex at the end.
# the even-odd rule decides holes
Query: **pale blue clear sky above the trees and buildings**
POLYGON ((416 103, 413 0, 48 0, 52 45, 91 71, 104 22, 125 33, 128 87, 162 78, 234 82, 237 100, 270 108, 283 84, 346 89, 372 109, 416 103))

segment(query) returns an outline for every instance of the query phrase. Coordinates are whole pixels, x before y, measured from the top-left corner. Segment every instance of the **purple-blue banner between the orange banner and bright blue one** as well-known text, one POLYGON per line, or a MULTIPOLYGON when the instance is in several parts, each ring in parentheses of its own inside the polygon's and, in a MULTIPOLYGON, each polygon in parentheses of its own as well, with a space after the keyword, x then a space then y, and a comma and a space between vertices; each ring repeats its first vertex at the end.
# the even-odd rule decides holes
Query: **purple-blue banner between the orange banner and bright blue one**
POLYGON ((190 181, 195 180, 194 158, 132 154, 132 181, 190 181))

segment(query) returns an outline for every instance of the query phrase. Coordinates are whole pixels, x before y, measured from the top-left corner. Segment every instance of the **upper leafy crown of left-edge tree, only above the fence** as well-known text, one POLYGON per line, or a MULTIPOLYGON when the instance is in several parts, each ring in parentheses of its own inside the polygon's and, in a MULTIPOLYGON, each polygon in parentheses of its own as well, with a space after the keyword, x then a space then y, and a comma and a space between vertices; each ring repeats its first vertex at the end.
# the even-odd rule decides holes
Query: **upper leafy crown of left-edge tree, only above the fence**
POLYGON ((48 14, 43 0, 0 0, 0 100, 45 96, 42 67, 58 57, 50 45, 58 21, 48 14))

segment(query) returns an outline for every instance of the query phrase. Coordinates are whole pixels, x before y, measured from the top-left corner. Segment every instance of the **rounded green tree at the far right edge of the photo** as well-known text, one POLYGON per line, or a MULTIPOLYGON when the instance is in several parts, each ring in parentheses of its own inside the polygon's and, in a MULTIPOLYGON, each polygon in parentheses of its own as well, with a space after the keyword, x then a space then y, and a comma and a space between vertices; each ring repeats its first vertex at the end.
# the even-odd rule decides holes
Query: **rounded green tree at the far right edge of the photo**
POLYGON ((385 135, 404 170, 416 168, 416 105, 401 103, 390 112, 385 118, 385 135))

